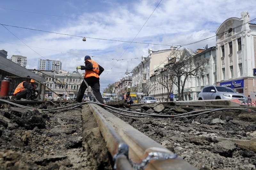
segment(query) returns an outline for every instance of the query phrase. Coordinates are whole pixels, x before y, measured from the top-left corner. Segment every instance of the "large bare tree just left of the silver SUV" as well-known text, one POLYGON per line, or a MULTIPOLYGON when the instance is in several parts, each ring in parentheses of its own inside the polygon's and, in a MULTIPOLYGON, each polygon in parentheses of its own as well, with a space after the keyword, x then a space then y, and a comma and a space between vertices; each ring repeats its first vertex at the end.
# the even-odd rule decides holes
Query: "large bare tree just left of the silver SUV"
POLYGON ((183 91, 188 78, 206 74, 206 70, 210 66, 207 65, 208 60, 206 58, 195 57, 191 50, 186 48, 177 51, 172 57, 173 60, 167 65, 167 68, 170 70, 169 76, 175 78, 170 80, 178 87, 179 100, 183 100, 183 91))

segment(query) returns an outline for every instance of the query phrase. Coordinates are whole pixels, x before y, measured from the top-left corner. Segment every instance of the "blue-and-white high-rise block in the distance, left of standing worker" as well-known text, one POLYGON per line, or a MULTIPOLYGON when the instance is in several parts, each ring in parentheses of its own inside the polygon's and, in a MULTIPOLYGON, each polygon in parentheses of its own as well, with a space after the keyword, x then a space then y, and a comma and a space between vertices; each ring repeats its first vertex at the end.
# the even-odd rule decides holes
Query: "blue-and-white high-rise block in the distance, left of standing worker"
POLYGON ((57 73, 61 70, 62 63, 58 60, 38 60, 38 70, 56 71, 57 73))

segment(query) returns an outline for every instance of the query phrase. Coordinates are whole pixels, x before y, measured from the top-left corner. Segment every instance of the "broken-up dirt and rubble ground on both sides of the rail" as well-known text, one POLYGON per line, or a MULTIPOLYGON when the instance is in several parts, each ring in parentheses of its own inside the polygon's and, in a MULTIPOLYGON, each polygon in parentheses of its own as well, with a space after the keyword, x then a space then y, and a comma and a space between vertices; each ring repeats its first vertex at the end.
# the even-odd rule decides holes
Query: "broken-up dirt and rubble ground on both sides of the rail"
MULTIPOLYGON (((27 105, 30 106, 30 105, 27 105)), ((57 113, 0 104, 0 169, 112 169, 106 144, 88 108, 57 113)), ((131 111, 175 115, 200 108, 133 105, 131 111), (157 107, 157 109, 155 109, 157 107)), ((217 111, 190 118, 128 117, 114 113, 198 169, 255 169, 256 155, 216 137, 251 139, 253 112, 217 111)))

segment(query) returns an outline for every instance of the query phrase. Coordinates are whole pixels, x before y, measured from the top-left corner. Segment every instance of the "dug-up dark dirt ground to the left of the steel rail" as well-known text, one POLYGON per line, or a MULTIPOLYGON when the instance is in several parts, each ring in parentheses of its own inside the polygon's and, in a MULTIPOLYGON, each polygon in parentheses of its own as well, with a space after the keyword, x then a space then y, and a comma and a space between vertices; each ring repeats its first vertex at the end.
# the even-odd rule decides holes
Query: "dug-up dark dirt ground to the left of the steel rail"
POLYGON ((87 144, 82 130, 81 108, 56 113, 0 104, 0 169, 111 169, 104 144, 100 148, 105 152, 98 156, 94 151, 98 143, 87 144))

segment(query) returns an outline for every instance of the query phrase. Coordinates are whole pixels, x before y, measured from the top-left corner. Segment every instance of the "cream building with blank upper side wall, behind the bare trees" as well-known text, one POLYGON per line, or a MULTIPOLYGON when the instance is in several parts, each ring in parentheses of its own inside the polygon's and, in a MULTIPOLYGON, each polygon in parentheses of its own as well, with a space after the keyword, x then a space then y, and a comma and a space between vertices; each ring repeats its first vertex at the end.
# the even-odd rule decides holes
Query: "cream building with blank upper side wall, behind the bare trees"
POLYGON ((137 92, 144 92, 150 86, 150 77, 154 74, 157 68, 163 68, 168 63, 168 57, 172 55, 171 49, 164 49, 153 51, 148 49, 148 57, 142 56, 141 62, 133 68, 132 73, 132 86, 137 86, 137 92))

